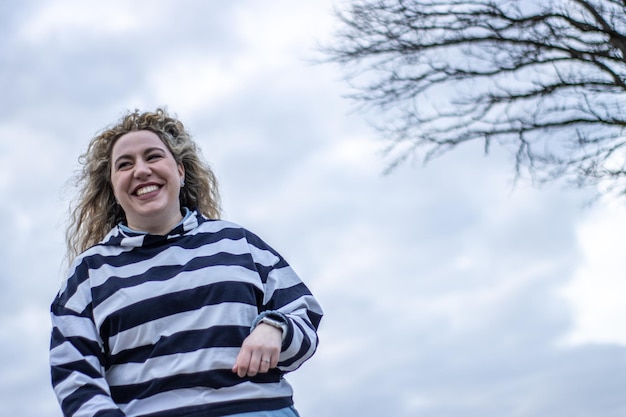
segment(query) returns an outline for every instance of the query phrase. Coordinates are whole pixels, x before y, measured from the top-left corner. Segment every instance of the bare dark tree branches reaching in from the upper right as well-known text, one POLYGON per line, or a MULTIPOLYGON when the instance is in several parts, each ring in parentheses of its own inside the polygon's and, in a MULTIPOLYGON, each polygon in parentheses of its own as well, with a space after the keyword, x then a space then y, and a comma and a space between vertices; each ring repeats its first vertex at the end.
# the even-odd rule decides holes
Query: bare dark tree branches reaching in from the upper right
POLYGON ((470 141, 626 193, 626 0, 356 0, 322 48, 383 110, 389 170, 470 141))

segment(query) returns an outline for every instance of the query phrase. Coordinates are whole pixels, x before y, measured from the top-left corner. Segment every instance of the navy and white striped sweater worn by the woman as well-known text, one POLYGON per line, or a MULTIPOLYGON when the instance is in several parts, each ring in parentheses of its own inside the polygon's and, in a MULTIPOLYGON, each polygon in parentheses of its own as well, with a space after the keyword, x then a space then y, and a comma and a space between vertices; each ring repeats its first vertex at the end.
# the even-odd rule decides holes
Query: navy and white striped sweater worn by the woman
POLYGON ((283 376, 315 352, 322 310, 256 235, 193 212, 167 236, 114 228, 74 261, 51 317, 64 416, 206 417, 292 405, 283 376), (240 378, 265 311, 287 318, 278 367, 240 378))

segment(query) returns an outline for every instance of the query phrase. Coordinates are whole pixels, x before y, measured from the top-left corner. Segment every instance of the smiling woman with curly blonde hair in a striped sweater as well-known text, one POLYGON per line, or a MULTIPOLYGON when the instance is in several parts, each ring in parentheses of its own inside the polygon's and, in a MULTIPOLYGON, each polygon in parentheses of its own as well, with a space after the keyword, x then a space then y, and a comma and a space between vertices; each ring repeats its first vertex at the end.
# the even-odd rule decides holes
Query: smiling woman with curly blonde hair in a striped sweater
POLYGON ((182 123, 135 111, 92 139, 51 306, 65 416, 297 416, 283 378, 322 310, 285 260, 219 220, 182 123))

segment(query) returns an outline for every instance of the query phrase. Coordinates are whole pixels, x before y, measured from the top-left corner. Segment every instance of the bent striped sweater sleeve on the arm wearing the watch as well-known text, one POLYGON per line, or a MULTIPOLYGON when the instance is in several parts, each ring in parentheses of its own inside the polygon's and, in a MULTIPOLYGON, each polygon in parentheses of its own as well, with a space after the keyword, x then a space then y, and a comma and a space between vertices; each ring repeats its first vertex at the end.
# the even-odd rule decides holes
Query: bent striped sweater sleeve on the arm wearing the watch
POLYGON ((283 372, 294 371, 317 349, 322 308, 282 256, 256 236, 251 243, 253 258, 264 284, 263 305, 259 306, 259 312, 277 312, 285 319, 287 333, 283 338, 278 368, 283 372))

